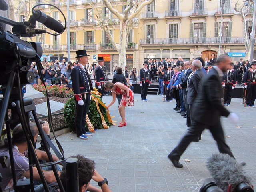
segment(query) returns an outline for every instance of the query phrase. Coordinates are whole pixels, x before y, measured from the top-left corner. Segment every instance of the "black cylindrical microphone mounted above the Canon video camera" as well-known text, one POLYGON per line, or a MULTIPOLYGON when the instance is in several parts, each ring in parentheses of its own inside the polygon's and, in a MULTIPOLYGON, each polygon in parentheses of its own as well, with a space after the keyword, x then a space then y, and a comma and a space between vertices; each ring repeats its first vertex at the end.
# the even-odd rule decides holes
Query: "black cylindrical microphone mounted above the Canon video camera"
POLYGON ((48 27, 51 30, 54 30, 57 33, 61 33, 64 29, 63 25, 56 21, 54 18, 46 15, 44 12, 40 10, 33 11, 34 18, 44 24, 46 27, 48 27))

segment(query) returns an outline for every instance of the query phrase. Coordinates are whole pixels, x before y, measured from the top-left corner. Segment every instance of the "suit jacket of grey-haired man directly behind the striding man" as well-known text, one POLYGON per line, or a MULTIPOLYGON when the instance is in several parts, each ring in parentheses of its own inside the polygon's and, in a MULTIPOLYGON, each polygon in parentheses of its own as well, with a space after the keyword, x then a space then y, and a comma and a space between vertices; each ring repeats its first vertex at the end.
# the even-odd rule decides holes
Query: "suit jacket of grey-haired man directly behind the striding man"
POLYGON ((187 103, 189 105, 194 104, 194 101, 200 89, 200 82, 203 80, 204 76, 205 74, 204 72, 202 72, 202 69, 198 69, 190 77, 188 82, 188 95, 187 95, 187 103))

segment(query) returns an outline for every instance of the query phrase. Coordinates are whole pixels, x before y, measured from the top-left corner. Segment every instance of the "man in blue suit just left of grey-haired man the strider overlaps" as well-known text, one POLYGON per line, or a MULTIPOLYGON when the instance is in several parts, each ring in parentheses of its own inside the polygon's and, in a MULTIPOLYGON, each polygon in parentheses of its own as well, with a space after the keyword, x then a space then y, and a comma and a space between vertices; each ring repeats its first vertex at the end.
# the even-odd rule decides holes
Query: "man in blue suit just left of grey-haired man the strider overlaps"
POLYGON ((179 87, 180 87, 180 89, 182 89, 183 102, 184 102, 184 106, 186 108, 185 111, 184 111, 185 112, 184 118, 187 118, 186 117, 186 115, 188 114, 187 83, 188 83, 188 77, 192 73, 192 70, 190 68, 190 62, 189 61, 185 61, 183 66, 184 66, 184 69, 185 69, 185 73, 184 73, 182 79, 180 80, 179 87))

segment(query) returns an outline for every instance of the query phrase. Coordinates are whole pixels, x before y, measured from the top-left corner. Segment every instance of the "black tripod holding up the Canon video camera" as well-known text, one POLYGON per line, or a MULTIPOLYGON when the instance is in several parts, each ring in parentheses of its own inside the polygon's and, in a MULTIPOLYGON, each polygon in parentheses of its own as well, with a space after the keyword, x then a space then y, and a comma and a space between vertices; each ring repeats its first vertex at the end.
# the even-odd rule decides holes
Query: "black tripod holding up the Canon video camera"
MULTIPOLYGON (((7 139, 8 139, 8 148, 9 148, 9 154, 10 154, 10 164, 11 164, 11 170, 12 170, 12 179, 13 179, 13 186, 15 191, 34 191, 34 180, 33 180, 33 170, 32 167, 36 166, 38 170, 38 174, 40 176, 40 179, 42 181, 42 184, 44 186, 44 189, 46 192, 49 192, 48 185, 46 183, 46 179, 44 177, 44 174, 42 172, 42 168, 40 165, 40 162, 36 156, 36 152, 34 149, 34 138, 31 133, 31 130, 29 128, 29 112, 31 111, 36 125, 38 127, 38 132, 40 133, 42 137, 42 142, 46 146, 46 154, 48 156, 48 159, 50 160, 50 164, 47 164, 47 166, 52 166, 52 170, 54 172, 54 175, 56 177, 56 180, 58 182, 58 185, 60 186, 60 190, 64 192, 63 185, 60 181, 60 177, 58 175, 57 169, 55 164, 64 161, 64 159, 59 160, 57 162, 53 162, 52 155, 50 153, 50 150, 48 148, 48 145, 46 143, 46 139, 44 137, 44 131, 42 130, 42 127, 40 125, 40 122, 36 116, 36 107, 34 105, 34 102, 32 99, 23 99, 22 97, 22 91, 21 91, 21 84, 20 84, 20 76, 19 71, 13 70, 9 74, 9 79, 7 81, 6 86, 2 86, 2 90, 4 92, 4 99, 1 100, 1 111, 0 111, 0 134, 2 134, 2 128, 4 125, 4 120, 6 121, 6 132, 7 132, 7 139), (17 77, 18 86, 14 86, 14 80, 17 77), (8 108, 12 110, 12 118, 8 117, 8 108), (12 140, 11 140, 11 133, 10 129, 11 126, 14 124, 21 123, 22 128, 24 130, 26 140, 28 143, 28 159, 29 159, 29 172, 30 172, 30 183, 22 183, 20 184, 16 180, 16 173, 15 173, 15 166, 14 166, 14 157, 13 157, 13 151, 12 151, 12 140)), ((44 165, 42 165, 44 166, 44 165)))

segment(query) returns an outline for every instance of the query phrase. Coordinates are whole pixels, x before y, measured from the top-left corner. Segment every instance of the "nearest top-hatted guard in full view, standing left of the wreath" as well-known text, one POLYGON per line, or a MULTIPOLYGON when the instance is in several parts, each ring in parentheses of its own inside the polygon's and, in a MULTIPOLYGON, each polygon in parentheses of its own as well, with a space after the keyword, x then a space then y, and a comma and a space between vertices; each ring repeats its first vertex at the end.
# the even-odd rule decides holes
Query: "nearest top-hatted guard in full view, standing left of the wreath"
POLYGON ((86 50, 76 51, 78 64, 71 71, 72 88, 76 100, 75 131, 80 139, 88 139, 91 133, 85 130, 85 116, 90 104, 90 93, 93 90, 92 80, 85 66, 88 63, 86 50))

